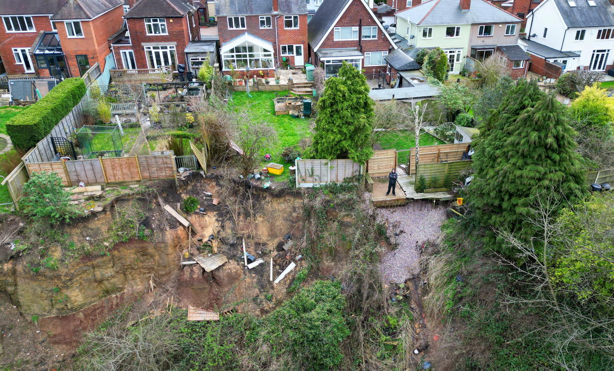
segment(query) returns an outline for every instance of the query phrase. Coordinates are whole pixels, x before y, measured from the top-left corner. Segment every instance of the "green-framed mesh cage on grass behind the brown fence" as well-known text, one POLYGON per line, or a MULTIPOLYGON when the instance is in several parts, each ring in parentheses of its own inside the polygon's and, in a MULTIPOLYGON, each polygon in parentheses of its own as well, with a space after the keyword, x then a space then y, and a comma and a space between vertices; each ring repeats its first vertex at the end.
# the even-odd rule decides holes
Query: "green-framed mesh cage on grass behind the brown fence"
POLYGON ((84 158, 123 156, 119 126, 84 125, 77 131, 77 140, 84 158))

